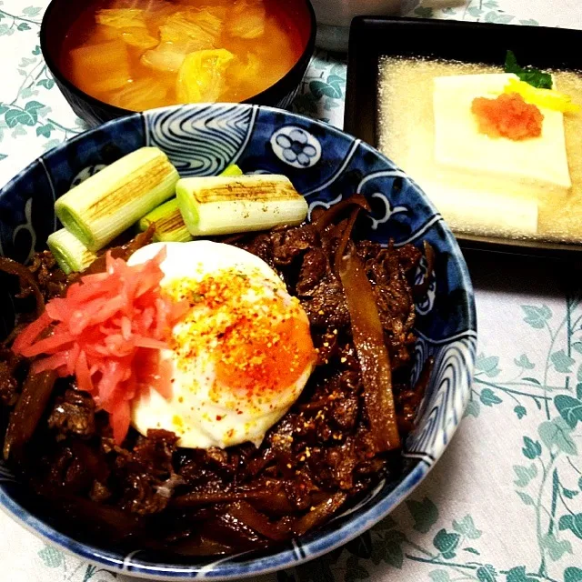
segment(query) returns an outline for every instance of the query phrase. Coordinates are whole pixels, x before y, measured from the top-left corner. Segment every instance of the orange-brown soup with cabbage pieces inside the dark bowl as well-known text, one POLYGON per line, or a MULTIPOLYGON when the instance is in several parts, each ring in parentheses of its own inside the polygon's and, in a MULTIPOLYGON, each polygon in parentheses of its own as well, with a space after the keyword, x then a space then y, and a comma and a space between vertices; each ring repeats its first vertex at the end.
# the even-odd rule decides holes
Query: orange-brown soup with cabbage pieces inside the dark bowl
POLYGON ((279 0, 101 0, 69 29, 61 67, 88 95, 143 111, 245 101, 304 48, 279 0))

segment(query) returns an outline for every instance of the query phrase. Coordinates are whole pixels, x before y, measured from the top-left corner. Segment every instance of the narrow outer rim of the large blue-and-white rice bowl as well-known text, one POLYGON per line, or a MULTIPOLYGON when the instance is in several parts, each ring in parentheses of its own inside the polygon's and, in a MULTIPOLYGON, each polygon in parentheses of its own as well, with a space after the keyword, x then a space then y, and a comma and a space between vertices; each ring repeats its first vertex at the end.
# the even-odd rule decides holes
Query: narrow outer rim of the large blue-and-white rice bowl
MULTIPOLYGON (((14 176, 5 186, 0 188, 0 198, 5 195, 5 192, 10 188, 15 186, 15 182, 25 176, 39 161, 44 163, 45 156, 49 156, 52 153, 64 150, 71 143, 76 143, 79 140, 85 138, 85 135, 91 135, 93 133, 102 131, 109 126, 125 123, 127 119, 132 117, 140 118, 149 115, 159 115, 168 114, 176 112, 178 110, 190 109, 190 110, 200 110, 212 107, 224 107, 224 106, 236 106, 238 108, 245 109, 255 109, 267 112, 271 115, 285 115, 286 120, 296 121, 296 122, 308 122, 309 124, 316 125, 321 131, 334 135, 336 137, 348 136, 353 143, 357 143, 368 150, 368 152, 373 153, 378 156, 381 160, 386 163, 391 164, 389 159, 378 152, 373 146, 362 142, 353 135, 347 134, 346 132, 337 129, 333 125, 328 125, 324 122, 311 119, 305 115, 298 115, 296 113, 291 113, 275 107, 270 107, 266 105, 248 105, 248 104, 189 104, 189 105, 170 105, 166 107, 161 107, 158 109, 148 110, 146 112, 135 112, 132 115, 126 115, 125 117, 115 118, 103 125, 94 127, 82 134, 75 135, 72 139, 63 142, 59 146, 55 146, 54 149, 46 152, 43 156, 40 156, 31 164, 25 167, 24 170, 19 172, 14 176)), ((145 120, 143 120, 145 123, 145 120)), ((407 174, 406 174, 407 176, 407 174)), ((409 178, 409 176, 407 176, 409 178)), ((435 214, 438 215, 435 206, 427 198, 424 191, 416 185, 414 180, 410 179, 410 186, 414 189, 416 196, 420 196, 423 202, 430 208, 435 210, 435 214)), ((470 336, 477 340, 477 314, 475 307, 475 294, 473 290, 473 285, 471 278, 468 273, 467 264, 461 250, 457 244, 457 239, 453 236, 450 228, 442 217, 439 216, 439 222, 441 226, 445 229, 447 235, 447 242, 450 245, 451 255, 455 258, 455 263, 457 265, 458 276, 462 280, 463 289, 466 290, 466 303, 464 304, 464 310, 467 316, 467 331, 460 332, 457 336, 453 336, 450 339, 456 339, 458 336, 470 336)), ((473 373, 475 366, 475 356, 476 349, 475 345, 469 348, 469 358, 468 358, 468 374, 464 377, 467 378, 467 382, 463 379, 459 380, 459 385, 463 389, 470 393, 473 373)), ((465 399, 465 406, 467 406, 468 398, 465 399)), ((371 507, 367 507, 366 511, 362 512, 356 517, 350 517, 346 523, 342 524, 340 527, 328 531, 325 534, 315 532, 313 538, 307 541, 305 544, 301 543, 301 538, 298 538, 299 543, 296 540, 292 541, 293 549, 283 549, 276 554, 269 555, 266 557, 254 558, 251 562, 246 565, 235 564, 232 567, 232 571, 221 571, 220 564, 226 562, 228 559, 234 556, 226 556, 217 559, 206 566, 195 566, 187 567, 186 565, 172 565, 169 562, 158 562, 152 563, 147 560, 141 561, 136 557, 141 550, 136 550, 127 555, 123 555, 122 552, 112 551, 108 549, 103 549, 95 547, 90 543, 79 542, 73 537, 69 537, 60 531, 56 530, 54 527, 49 526, 40 518, 32 515, 25 507, 22 507, 18 502, 15 501, 13 497, 10 497, 5 490, 0 487, 0 509, 5 511, 10 517, 15 519, 16 522, 23 525, 28 531, 35 534, 37 537, 41 537, 48 541, 49 543, 55 544, 61 547, 66 553, 74 555, 75 557, 81 557, 88 562, 95 564, 98 567, 105 567, 105 569, 113 570, 126 576, 130 577, 140 577, 149 580, 166 580, 175 581, 183 579, 193 579, 193 578, 212 578, 214 580, 236 580, 246 577, 255 577, 260 575, 265 575, 273 573, 287 567, 296 567, 299 564, 306 563, 317 557, 321 557, 324 554, 333 551, 337 547, 344 546, 347 542, 354 539, 355 537, 364 533, 370 527, 376 525, 377 522, 385 518, 392 510, 394 510, 406 497, 408 497, 415 488, 423 481, 426 475, 435 466, 438 459, 442 457, 444 451, 446 450, 448 444, 450 443, 452 437, 454 437, 457 432, 458 426, 462 419, 464 408, 458 410, 459 421, 457 426, 454 426, 450 437, 447 442, 440 442, 437 446, 437 454, 434 456, 432 463, 429 463, 425 458, 418 458, 413 454, 410 455, 411 458, 416 459, 416 465, 410 470, 410 472, 404 477, 400 482, 397 483, 396 487, 390 490, 385 497, 378 498, 374 501, 371 507), (307 552, 306 549, 307 548, 307 552)), ((0 474, 0 481, 2 481, 2 475, 0 474)), ((354 512, 355 513, 355 512, 354 512)))

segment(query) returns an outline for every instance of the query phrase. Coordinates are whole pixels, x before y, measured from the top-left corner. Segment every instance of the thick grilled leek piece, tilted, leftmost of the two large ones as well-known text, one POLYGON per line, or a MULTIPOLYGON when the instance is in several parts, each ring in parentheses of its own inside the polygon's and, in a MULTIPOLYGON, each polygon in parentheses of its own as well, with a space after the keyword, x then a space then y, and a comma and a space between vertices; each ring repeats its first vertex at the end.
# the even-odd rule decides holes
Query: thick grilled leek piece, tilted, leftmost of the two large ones
POLYGON ((174 196, 178 178, 164 152, 142 147, 61 196, 56 216, 95 252, 174 196))

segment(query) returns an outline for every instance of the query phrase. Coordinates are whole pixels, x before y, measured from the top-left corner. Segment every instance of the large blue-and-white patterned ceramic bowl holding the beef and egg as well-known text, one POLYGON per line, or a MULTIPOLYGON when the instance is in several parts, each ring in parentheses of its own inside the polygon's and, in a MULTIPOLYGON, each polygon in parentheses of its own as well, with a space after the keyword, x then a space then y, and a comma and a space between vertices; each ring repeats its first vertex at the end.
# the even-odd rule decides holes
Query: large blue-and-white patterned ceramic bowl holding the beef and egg
MULTIPOLYGON (((306 196, 310 210, 355 192, 373 208, 365 236, 396 246, 429 242, 437 251, 434 272, 416 305, 416 380, 434 357, 434 372, 416 431, 406 441, 405 465, 394 482, 380 483, 355 507, 326 527, 276 549, 215 559, 161 557, 135 547, 81 543, 55 517, 35 505, 0 464, 0 504, 35 534, 101 567, 148 579, 237 579, 296 566, 363 533, 400 503, 443 454, 463 416, 476 351, 473 290, 455 238, 426 196, 406 174, 370 146, 329 125, 257 105, 186 105, 116 119, 75 137, 28 166, 0 191, 0 252, 25 261, 59 228, 58 196, 101 167, 140 146, 166 151, 183 176, 217 174, 229 164, 246 172, 286 174, 306 196)), ((0 287, 4 331, 14 322, 12 303, 0 287)), ((2 333, 2 329, 0 329, 2 333)))

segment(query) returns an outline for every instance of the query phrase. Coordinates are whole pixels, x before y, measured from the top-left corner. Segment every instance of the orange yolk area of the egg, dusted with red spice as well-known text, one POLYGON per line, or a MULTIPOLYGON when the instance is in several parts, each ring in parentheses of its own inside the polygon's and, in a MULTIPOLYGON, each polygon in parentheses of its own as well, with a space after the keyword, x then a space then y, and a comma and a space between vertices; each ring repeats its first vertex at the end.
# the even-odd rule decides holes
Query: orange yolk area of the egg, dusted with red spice
POLYGON ((299 300, 260 272, 226 269, 175 282, 168 292, 191 306, 174 336, 178 362, 187 367, 191 358, 210 355, 215 396, 273 396, 294 386, 316 361, 299 300))

